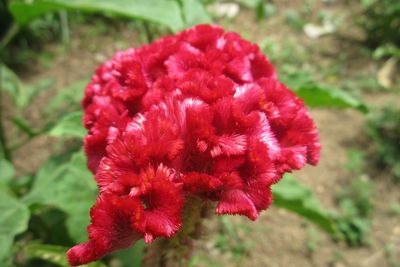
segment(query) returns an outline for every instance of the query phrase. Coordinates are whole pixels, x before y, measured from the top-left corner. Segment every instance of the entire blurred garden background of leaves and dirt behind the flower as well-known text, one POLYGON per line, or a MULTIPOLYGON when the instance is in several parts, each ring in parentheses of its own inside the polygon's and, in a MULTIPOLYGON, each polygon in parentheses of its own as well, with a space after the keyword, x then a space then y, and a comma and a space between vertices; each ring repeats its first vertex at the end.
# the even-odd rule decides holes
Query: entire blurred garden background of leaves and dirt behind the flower
MULTIPOLYGON (((0 266, 68 266, 97 195, 85 85, 116 51, 198 23, 260 46, 322 156, 256 222, 207 221, 191 266, 400 266, 399 0, 0 0, 0 266)), ((90 266, 140 266, 143 247, 90 266)))

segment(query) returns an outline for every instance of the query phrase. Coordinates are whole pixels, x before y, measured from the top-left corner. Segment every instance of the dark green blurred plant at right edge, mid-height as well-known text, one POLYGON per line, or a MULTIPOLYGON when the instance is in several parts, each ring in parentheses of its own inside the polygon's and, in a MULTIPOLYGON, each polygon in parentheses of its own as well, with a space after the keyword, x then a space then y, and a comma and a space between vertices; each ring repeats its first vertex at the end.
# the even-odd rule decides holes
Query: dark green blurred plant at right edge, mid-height
POLYGON ((400 109, 385 107, 373 114, 368 134, 374 142, 374 158, 400 182, 400 109))

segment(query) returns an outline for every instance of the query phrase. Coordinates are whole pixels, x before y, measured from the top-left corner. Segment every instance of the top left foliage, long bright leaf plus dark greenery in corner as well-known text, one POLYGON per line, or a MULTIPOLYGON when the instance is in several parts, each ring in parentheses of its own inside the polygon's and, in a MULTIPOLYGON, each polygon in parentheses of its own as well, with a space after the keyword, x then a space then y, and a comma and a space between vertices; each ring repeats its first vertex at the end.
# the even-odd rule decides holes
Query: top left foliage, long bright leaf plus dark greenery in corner
POLYGON ((43 43, 57 39, 68 42, 68 18, 79 17, 82 13, 94 18, 97 17, 91 14, 142 22, 140 31, 147 34, 147 39, 158 32, 151 30, 154 27, 165 29, 161 32, 165 34, 212 22, 200 0, 1 1, 0 14, 4 16, 0 20, 0 57, 16 66, 34 58, 43 43), (10 43, 12 46, 7 47, 10 43))

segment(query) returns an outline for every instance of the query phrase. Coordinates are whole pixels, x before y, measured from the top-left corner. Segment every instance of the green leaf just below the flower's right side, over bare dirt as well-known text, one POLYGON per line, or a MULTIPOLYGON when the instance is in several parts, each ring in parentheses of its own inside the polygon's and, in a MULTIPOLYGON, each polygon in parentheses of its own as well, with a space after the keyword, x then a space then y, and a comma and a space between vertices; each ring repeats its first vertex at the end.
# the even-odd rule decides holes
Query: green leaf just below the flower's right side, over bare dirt
POLYGON ((279 183, 272 186, 272 192, 274 205, 297 213, 330 234, 336 233, 333 219, 321 210, 312 191, 292 176, 285 175, 279 183))

